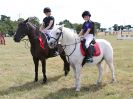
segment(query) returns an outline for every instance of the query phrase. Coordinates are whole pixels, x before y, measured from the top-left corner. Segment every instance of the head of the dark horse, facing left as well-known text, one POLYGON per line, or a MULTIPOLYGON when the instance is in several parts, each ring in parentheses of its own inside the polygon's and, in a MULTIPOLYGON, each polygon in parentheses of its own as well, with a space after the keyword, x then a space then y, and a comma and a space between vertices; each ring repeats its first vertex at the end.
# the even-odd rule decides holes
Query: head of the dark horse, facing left
POLYGON ((15 42, 20 42, 21 39, 24 38, 28 34, 28 32, 29 32, 29 28, 27 25, 28 21, 29 21, 29 18, 18 24, 18 28, 17 28, 16 33, 14 35, 14 41, 15 42))

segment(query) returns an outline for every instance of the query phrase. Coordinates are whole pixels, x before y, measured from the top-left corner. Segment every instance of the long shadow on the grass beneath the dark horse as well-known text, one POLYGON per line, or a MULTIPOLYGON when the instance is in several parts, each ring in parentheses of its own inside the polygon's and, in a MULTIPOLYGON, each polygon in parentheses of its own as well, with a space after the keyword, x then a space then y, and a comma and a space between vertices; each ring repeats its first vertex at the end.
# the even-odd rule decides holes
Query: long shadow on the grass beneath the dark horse
MULTIPOLYGON (((55 76, 55 77, 48 78, 47 83, 57 81, 62 76, 63 76, 63 74, 62 75, 55 76)), ((6 90, 0 90, 0 95, 1 96, 2 95, 8 95, 8 94, 16 93, 16 92, 22 92, 22 91, 25 91, 25 90, 30 91, 32 89, 40 88, 43 85, 47 85, 47 83, 46 84, 42 84, 42 80, 39 80, 38 82, 34 82, 34 81, 27 82, 27 83, 25 83, 23 85, 20 85, 20 86, 13 86, 13 87, 9 87, 6 90)))

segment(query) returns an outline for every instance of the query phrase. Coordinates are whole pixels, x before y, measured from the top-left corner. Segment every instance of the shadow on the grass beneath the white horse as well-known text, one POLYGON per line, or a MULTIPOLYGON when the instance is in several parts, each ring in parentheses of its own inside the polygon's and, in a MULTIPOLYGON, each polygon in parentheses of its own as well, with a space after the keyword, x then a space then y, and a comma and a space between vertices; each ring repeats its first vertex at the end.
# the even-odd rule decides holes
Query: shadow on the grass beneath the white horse
POLYGON ((80 92, 76 92, 75 88, 62 88, 55 93, 50 93, 45 96, 43 99, 71 99, 71 98, 80 98, 85 94, 90 94, 101 90, 105 87, 106 84, 96 86, 95 84, 89 86, 81 87, 80 92))

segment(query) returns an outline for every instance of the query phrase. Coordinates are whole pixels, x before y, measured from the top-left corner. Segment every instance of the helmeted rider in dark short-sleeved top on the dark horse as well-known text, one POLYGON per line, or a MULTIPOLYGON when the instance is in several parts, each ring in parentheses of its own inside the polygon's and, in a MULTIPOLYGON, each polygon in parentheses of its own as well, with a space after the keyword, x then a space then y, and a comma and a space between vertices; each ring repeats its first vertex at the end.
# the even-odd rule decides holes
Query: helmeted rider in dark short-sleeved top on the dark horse
MULTIPOLYGON (((43 19, 43 23, 39 30, 44 33, 48 41, 50 39, 50 30, 54 27, 54 17, 51 16, 51 9, 49 7, 45 7, 43 13, 46 15, 46 17, 43 19)), ((55 56, 58 54, 56 50, 53 50, 55 56)))

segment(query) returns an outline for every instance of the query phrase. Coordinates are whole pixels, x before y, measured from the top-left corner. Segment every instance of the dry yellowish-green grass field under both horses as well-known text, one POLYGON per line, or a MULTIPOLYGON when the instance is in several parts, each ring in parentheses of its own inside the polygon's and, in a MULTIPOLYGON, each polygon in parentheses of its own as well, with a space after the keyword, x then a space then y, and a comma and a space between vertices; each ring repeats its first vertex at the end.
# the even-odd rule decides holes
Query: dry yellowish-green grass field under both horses
POLYGON ((39 81, 34 83, 30 50, 24 42, 6 38, 6 45, 0 45, 0 99, 133 99, 133 41, 116 40, 114 36, 97 38, 106 39, 113 46, 117 83, 109 83, 111 73, 103 63, 103 83, 95 86, 97 67, 85 65, 81 71, 81 91, 75 92, 73 71, 64 76, 60 57, 47 60, 47 84, 41 84, 41 65, 39 81))

